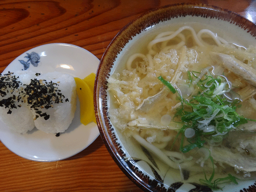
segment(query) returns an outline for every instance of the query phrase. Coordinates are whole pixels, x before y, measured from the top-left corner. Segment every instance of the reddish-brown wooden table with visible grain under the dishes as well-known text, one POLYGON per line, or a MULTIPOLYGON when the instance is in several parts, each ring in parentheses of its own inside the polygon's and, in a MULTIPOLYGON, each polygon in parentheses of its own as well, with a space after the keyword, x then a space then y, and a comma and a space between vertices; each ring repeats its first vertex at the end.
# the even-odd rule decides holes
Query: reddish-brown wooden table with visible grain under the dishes
MULTIPOLYGON (((68 43, 99 59, 118 31, 140 14, 180 0, 1 0, 0 72, 36 46, 68 43)), ((186 0, 232 10, 256 22, 256 1, 186 0)), ((140 192, 118 168, 100 136, 66 160, 35 162, 0 142, 0 191, 140 192)))

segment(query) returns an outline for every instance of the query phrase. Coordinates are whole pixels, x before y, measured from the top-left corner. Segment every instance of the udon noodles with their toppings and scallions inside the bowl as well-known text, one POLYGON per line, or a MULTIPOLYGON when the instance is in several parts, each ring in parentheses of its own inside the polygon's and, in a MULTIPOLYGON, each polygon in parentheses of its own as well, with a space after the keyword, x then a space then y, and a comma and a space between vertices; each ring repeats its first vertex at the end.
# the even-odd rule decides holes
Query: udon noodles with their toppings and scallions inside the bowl
POLYGON ((254 46, 191 26, 162 32, 108 79, 115 104, 110 120, 168 166, 209 174, 199 179, 212 188, 251 178, 255 69, 254 46))

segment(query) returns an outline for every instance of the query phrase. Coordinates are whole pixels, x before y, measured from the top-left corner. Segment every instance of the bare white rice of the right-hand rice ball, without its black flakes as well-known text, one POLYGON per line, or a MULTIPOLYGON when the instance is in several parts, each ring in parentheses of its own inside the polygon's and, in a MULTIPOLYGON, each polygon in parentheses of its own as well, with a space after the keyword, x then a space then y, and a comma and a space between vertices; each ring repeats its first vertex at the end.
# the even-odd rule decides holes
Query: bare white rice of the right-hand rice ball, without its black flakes
MULTIPOLYGON (((60 72, 50 72, 40 75, 38 78, 43 80, 43 83, 45 80, 46 82, 57 83, 58 89, 65 97, 62 103, 53 103, 52 107, 48 109, 38 107, 37 109, 49 115, 49 118, 45 120, 44 116, 39 116, 34 120, 35 126, 46 133, 64 132, 70 126, 76 111, 76 82, 74 77, 60 72)), ((32 112, 35 118, 38 114, 34 109, 32 112)))

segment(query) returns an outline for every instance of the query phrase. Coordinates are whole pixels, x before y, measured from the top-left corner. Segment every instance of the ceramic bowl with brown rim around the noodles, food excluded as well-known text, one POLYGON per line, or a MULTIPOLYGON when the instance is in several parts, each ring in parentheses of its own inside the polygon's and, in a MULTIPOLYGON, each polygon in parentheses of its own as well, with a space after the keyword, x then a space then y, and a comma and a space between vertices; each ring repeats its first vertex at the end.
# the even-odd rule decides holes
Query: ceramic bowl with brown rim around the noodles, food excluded
MULTIPOLYGON (((196 179, 187 182, 175 171, 150 154, 133 138, 126 138, 114 126, 109 110, 114 107, 113 96, 108 91, 108 78, 126 68, 126 60, 137 52, 144 52, 146 45, 160 32, 177 30, 180 26, 207 28, 228 42, 248 47, 256 45, 256 26, 242 16, 228 10, 204 4, 175 4, 142 14, 126 25, 106 49, 94 87, 94 108, 102 139, 120 169, 145 191, 193 192, 212 191, 196 179)), ((190 177, 190 176, 188 176, 190 177)), ((199 179, 199 178, 198 178, 199 179)), ((256 190, 254 180, 226 184, 223 191, 256 190)))

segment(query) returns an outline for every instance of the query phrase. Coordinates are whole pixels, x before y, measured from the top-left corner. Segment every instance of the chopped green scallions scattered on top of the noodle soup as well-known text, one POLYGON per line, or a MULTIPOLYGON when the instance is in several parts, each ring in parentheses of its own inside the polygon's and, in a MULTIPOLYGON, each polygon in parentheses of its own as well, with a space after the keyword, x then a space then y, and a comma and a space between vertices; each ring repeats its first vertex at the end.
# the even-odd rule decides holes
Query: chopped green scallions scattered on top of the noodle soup
MULTIPOLYGON (((170 82, 164 80, 162 76, 158 79, 167 86, 172 93, 176 93, 175 88, 170 82)), ((236 126, 245 124, 251 120, 244 118, 236 112, 236 108, 240 103, 238 98, 233 100, 228 99, 224 94, 230 92, 231 82, 222 76, 214 76, 208 69, 204 70, 204 75, 199 72, 188 72, 189 86, 195 86, 195 90, 199 90, 195 95, 190 96, 190 100, 184 99, 182 95, 178 97, 181 102, 181 107, 177 109, 175 118, 177 122, 184 125, 174 139, 176 142, 181 134, 180 151, 183 153, 189 152, 194 148, 202 148, 206 142, 222 142, 225 136, 236 126), (196 76, 196 74, 199 74, 196 76), (196 79, 194 79, 196 78, 196 79), (186 107, 184 107, 186 105, 186 107), (186 138, 185 130, 194 129, 194 136, 186 138), (184 146, 184 139, 190 144, 184 146)), ((172 146, 174 145, 172 144, 172 146)), ((209 179, 200 179, 200 182, 206 184, 212 189, 220 189, 219 184, 226 182, 236 182, 236 179, 231 174, 224 178, 214 178, 214 160, 212 156, 208 156, 212 162, 212 174, 209 179)))

